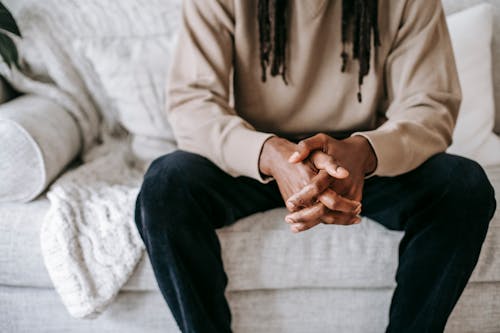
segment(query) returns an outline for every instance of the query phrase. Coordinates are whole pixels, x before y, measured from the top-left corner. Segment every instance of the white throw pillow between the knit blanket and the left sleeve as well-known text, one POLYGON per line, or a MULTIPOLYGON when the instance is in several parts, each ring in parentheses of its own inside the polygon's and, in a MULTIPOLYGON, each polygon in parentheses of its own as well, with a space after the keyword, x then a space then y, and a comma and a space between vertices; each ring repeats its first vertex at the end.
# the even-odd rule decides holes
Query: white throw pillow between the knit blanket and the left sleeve
POLYGON ((79 39, 74 48, 89 62, 119 123, 131 134, 132 152, 151 160, 175 148, 166 115, 165 87, 174 36, 79 39))

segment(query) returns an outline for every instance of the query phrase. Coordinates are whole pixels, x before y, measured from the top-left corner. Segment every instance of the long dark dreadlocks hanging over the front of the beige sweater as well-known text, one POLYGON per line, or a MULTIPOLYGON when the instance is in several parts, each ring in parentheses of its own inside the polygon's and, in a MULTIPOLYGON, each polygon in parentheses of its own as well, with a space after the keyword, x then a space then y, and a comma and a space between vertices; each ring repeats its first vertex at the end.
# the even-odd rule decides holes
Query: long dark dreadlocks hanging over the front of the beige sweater
MULTIPOLYGON (((285 84, 288 0, 259 0, 259 42, 262 81, 266 82, 267 68, 271 76, 281 75, 285 84), (271 55, 272 54, 272 55, 271 55)), ((352 42, 352 58, 359 62, 358 101, 361 103, 363 79, 370 72, 371 40, 380 46, 377 0, 342 0, 342 67, 349 61, 347 44, 352 42)))

